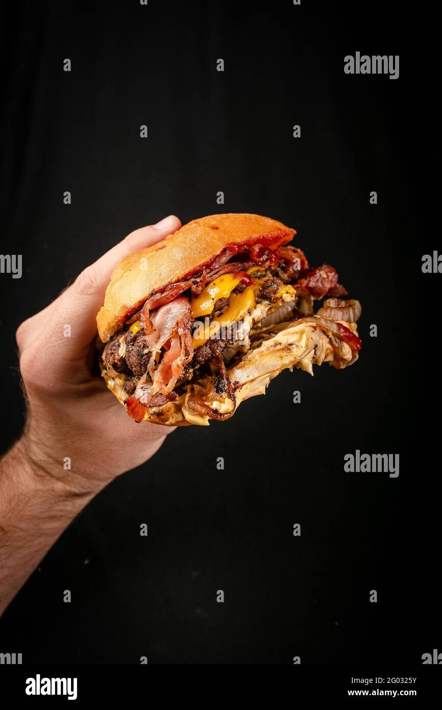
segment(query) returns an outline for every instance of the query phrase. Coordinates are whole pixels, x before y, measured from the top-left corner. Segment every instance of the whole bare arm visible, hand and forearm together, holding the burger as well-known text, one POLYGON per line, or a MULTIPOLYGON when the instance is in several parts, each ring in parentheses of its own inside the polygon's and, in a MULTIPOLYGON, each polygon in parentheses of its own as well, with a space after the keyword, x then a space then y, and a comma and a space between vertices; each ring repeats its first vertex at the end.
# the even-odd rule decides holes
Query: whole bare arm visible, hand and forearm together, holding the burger
POLYGON ((132 232, 18 327, 27 421, 0 461, 0 613, 75 515, 116 476, 150 459, 172 430, 137 425, 93 364, 96 314, 114 269, 180 226, 170 215, 132 232), (63 337, 66 323, 72 337, 63 337))

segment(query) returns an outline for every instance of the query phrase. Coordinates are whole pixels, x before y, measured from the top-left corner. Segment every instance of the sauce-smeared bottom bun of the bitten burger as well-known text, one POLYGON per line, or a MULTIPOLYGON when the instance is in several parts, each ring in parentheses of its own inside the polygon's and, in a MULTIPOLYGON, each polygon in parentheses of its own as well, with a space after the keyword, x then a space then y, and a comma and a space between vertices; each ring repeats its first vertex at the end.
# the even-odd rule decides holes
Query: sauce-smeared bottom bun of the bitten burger
MULTIPOLYGON (((341 323, 357 335, 355 323, 341 323)), ((258 332, 251 349, 227 369, 228 378, 235 389, 236 408, 250 397, 265 394, 268 383, 287 368, 301 368, 313 375, 314 364, 329 362, 339 369, 353 364, 358 354, 348 344, 333 337, 333 324, 331 320, 311 316, 270 326, 258 332)), ((100 366, 106 385, 124 405, 124 400, 128 398, 124 390, 125 376, 113 369, 106 370, 101 359, 100 366)), ((209 425, 211 417, 192 409, 189 403, 192 395, 197 395, 217 413, 228 414, 233 410, 233 403, 227 395, 216 395, 214 380, 215 376, 205 377, 196 384, 187 385, 187 392, 175 402, 168 402, 162 407, 146 408, 144 421, 168 427, 209 425)))

